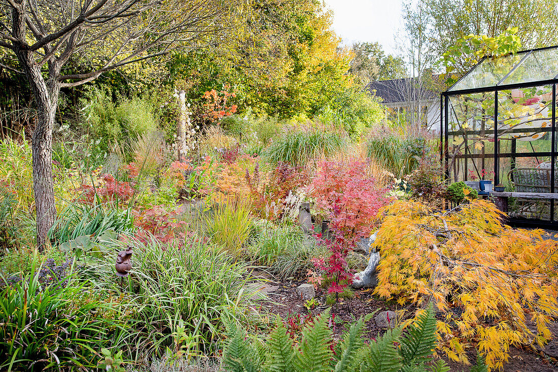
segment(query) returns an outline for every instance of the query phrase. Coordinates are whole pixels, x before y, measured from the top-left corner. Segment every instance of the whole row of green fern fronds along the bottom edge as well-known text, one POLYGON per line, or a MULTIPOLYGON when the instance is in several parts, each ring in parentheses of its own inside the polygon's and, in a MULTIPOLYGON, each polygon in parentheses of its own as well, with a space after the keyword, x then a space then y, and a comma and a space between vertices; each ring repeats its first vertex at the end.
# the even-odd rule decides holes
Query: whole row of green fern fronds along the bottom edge
POLYGON ((335 355, 330 349, 333 338, 328 327, 328 312, 304 327, 298 345, 293 345, 285 326, 277 321, 276 329, 267 340, 268 351, 263 356, 246 339, 245 332, 230 326, 230 337, 223 351, 223 367, 228 372, 449 371, 444 361, 434 363, 433 360, 436 318, 432 306, 406 328, 405 336, 402 336, 401 327, 396 327, 365 345, 362 334, 369 318, 360 318, 353 323, 337 345, 335 355))

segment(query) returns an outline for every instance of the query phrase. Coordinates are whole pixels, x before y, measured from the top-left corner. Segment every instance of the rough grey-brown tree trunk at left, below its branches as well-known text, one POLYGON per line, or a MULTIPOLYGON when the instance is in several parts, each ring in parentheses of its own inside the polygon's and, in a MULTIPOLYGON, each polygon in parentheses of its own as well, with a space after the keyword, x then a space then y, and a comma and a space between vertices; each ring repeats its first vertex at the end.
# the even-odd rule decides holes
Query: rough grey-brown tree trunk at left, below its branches
MULTIPOLYGON (((31 149, 33 151, 33 190, 37 216, 37 248, 45 248, 47 232, 56 219, 54 183, 52 180, 52 130, 54 115, 60 92, 56 76, 45 82, 40 66, 33 60, 31 52, 15 50, 20 65, 31 84, 37 105, 37 120, 33 131, 31 149)), ((55 75, 55 74, 54 74, 55 75)))

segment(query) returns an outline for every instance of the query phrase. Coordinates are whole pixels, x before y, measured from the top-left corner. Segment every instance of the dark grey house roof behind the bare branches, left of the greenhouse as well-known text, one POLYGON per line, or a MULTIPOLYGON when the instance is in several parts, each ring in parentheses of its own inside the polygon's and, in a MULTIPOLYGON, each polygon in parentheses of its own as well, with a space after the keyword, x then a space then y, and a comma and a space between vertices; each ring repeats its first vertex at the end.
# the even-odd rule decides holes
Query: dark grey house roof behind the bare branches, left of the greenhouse
POLYGON ((432 99, 436 93, 430 89, 416 86, 415 78, 391 79, 370 82, 364 89, 372 95, 382 97, 382 103, 415 101, 416 99, 432 99))

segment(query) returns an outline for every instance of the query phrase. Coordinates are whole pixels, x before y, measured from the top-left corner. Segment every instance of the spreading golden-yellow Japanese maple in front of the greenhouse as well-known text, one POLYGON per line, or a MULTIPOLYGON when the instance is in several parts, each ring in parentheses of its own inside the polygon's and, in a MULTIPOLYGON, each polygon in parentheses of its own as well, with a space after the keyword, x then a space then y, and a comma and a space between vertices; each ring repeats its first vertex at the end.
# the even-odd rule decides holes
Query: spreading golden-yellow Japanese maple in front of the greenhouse
POLYGON ((465 351, 476 345, 489 369, 501 369, 509 345, 550 340, 558 244, 543 239, 543 230, 503 225, 486 201, 445 212, 396 201, 378 216, 376 293, 419 309, 434 301, 438 348, 451 359, 468 363, 465 351))

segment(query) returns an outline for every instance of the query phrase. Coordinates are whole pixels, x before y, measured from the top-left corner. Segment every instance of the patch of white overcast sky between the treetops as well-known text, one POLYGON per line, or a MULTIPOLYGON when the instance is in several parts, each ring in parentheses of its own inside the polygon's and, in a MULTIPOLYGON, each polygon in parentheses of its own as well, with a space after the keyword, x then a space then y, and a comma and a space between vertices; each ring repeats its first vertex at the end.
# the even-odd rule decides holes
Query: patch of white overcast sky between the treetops
POLYGON ((401 29, 402 0, 325 0, 333 10, 333 29, 344 44, 378 41, 395 53, 394 36, 401 29))

